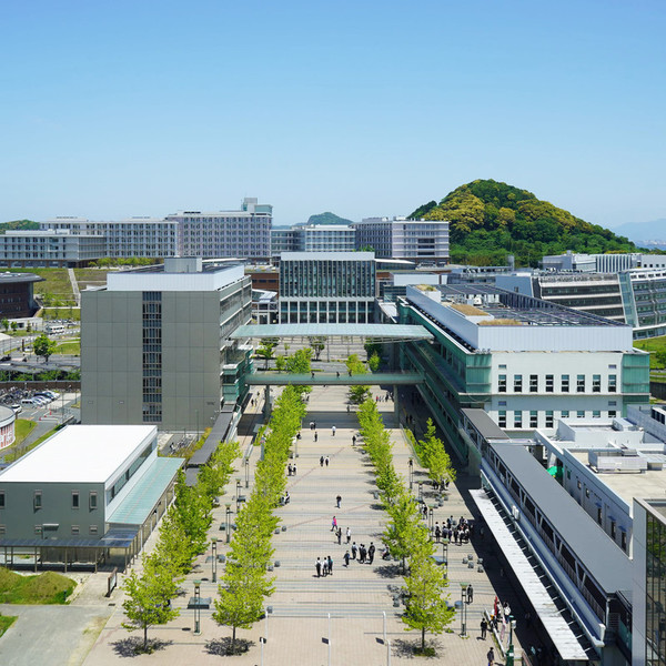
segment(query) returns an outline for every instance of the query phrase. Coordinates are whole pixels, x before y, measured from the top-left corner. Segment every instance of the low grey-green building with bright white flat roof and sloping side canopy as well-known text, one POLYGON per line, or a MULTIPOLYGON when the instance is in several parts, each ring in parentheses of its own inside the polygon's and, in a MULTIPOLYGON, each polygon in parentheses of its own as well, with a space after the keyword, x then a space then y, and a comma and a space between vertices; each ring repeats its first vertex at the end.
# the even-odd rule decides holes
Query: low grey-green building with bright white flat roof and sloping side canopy
POLYGON ((38 562, 138 553, 171 500, 181 458, 147 425, 70 425, 0 472, 0 549, 38 562))

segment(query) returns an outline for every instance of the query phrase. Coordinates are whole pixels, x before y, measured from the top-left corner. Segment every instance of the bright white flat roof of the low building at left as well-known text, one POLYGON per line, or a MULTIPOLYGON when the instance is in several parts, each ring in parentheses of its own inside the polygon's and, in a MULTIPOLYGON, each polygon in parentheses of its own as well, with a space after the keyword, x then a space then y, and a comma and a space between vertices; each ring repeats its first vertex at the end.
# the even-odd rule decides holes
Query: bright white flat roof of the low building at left
POLYGON ((104 483, 155 436, 154 425, 70 425, 0 472, 0 485, 104 483))

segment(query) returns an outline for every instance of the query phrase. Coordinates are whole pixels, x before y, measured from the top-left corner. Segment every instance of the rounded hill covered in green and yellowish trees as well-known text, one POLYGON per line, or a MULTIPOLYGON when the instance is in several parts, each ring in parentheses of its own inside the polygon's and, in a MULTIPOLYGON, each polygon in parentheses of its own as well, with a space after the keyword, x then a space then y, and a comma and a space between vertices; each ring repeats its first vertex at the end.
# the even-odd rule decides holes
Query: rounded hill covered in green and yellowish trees
POLYGON ((476 180, 456 188, 440 203, 431 201, 410 218, 448 220, 451 261, 501 265, 506 255, 516 265, 536 266, 544 254, 572 250, 593 254, 636 252, 624 236, 591 224, 527 190, 494 180, 476 180))

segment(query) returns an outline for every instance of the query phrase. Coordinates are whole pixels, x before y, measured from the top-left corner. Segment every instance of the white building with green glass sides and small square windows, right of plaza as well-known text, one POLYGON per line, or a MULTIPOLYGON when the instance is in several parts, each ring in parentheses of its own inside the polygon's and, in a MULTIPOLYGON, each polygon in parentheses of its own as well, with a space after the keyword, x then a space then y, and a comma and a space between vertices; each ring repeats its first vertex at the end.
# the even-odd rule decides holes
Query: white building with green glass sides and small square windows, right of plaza
POLYGON ((488 285, 407 286, 397 310, 436 339, 405 344, 403 367, 425 374, 418 391, 470 471, 478 458, 461 435, 462 408, 526 433, 649 401, 649 355, 627 325, 488 285))

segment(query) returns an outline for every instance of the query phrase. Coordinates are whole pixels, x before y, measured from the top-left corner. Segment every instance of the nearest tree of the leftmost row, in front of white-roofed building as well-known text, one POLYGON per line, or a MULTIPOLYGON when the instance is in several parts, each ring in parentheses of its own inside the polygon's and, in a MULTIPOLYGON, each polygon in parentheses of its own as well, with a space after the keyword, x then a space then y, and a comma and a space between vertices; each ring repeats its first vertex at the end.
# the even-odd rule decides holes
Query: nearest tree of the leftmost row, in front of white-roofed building
POLYGON ((162 567, 154 556, 143 557, 141 576, 132 571, 124 583, 125 601, 122 604, 128 622, 122 626, 130 632, 143 629, 143 652, 148 652, 148 629, 178 617, 171 599, 178 595, 172 571, 162 567))

